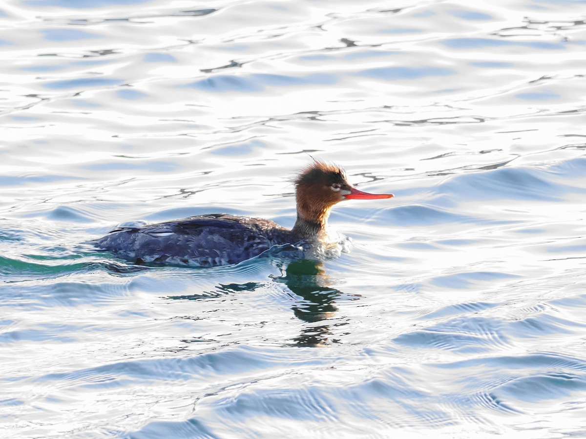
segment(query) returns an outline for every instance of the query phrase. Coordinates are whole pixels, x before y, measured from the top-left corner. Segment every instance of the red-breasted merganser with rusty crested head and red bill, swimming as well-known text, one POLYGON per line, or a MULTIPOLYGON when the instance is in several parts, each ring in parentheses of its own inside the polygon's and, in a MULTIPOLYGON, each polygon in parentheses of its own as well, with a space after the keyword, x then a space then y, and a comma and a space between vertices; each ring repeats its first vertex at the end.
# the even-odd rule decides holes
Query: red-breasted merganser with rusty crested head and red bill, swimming
POLYGON ((254 258, 280 245, 313 245, 327 238, 334 204, 376 200, 393 194, 369 194, 348 183, 334 164, 315 162, 295 179, 297 221, 291 230, 270 219, 229 214, 197 215, 142 227, 120 227, 93 244, 132 262, 214 267, 254 258))

